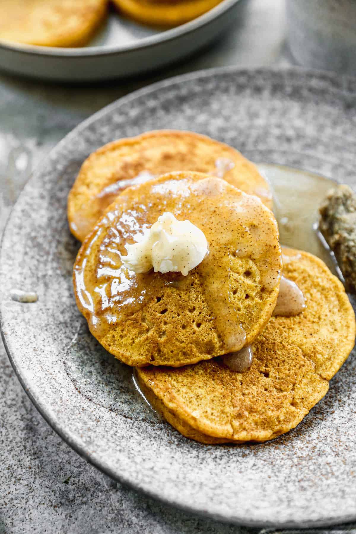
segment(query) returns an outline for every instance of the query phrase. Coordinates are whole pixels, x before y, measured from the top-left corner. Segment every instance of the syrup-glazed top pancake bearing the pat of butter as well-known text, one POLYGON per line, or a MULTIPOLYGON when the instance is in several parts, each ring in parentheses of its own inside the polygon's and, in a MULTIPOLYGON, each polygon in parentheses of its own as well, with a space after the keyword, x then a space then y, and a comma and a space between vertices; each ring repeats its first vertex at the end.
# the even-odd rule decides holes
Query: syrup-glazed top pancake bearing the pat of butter
POLYGON ((239 350, 271 317, 282 268, 274 216, 219 178, 172 172, 129 187, 85 239, 74 265, 91 333, 129 365, 180 366, 239 350), (185 277, 136 274, 120 254, 170 211, 205 234, 209 253, 185 277))

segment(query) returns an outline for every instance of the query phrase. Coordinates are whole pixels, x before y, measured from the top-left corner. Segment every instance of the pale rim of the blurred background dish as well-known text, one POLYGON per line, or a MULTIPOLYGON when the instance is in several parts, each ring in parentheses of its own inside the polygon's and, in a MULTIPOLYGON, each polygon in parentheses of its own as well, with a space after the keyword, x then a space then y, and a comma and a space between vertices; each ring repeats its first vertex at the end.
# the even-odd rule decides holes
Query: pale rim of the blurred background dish
POLYGON ((28 56, 56 57, 56 58, 86 58, 120 55, 136 52, 141 49, 149 49, 154 46, 175 41, 177 38, 191 34, 199 28, 203 28, 211 21, 218 19, 224 13, 231 10, 242 0, 222 0, 218 5, 212 7, 206 13, 193 20, 185 22, 180 26, 163 30, 155 35, 149 35, 138 40, 137 43, 127 43, 125 45, 103 45, 103 46, 81 46, 77 48, 64 48, 58 46, 37 46, 33 44, 12 43, 0 41, 1 51, 12 51, 27 54, 28 56))

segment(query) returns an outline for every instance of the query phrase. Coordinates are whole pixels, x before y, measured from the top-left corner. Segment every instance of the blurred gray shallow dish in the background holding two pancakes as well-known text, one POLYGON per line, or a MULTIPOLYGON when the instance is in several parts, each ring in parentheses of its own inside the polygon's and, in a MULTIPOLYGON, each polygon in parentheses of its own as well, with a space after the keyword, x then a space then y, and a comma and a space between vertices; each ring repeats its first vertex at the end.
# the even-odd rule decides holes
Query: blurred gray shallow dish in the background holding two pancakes
POLYGON ((176 28, 153 29, 110 12, 88 46, 52 48, 0 43, 0 68, 44 80, 88 82, 139 75, 189 56, 243 17, 247 0, 223 0, 176 28))

